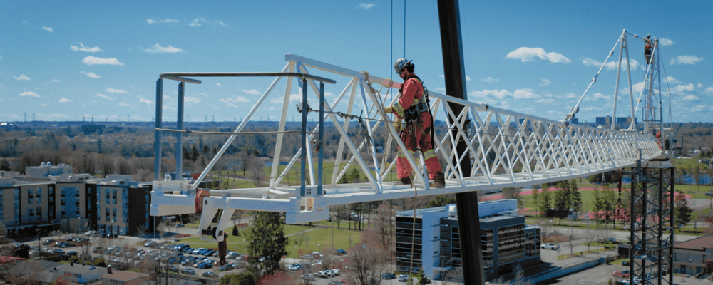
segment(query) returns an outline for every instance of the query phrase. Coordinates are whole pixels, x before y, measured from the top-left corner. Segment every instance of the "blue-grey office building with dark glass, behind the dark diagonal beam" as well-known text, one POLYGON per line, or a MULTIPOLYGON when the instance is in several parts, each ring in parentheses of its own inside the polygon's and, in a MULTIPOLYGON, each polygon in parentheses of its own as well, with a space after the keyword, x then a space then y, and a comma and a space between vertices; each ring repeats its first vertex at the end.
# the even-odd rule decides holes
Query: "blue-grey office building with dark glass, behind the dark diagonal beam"
MULTIPOLYGON (((528 268, 540 261, 540 227, 525 224, 515 199, 478 203, 486 281, 528 268)), ((396 214, 396 271, 441 279, 462 266, 455 204, 396 214), (415 222, 415 224, 414 224, 415 222)))

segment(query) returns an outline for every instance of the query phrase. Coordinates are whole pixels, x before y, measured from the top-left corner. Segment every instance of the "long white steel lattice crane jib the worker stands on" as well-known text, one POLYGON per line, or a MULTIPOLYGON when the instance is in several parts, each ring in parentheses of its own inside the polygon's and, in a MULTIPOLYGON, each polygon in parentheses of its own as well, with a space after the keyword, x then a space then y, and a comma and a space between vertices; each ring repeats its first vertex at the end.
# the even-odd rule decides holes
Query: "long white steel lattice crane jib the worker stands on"
MULTIPOLYGON (((436 131, 434 138, 437 155, 448 158, 446 165, 443 165, 446 174, 446 187, 442 189, 429 188, 426 178, 428 176, 424 170, 421 155, 417 152, 416 157, 413 157, 406 151, 401 151, 401 153, 406 156, 412 168, 416 170, 414 174, 415 187, 394 185, 394 182, 384 182, 386 175, 396 164, 396 155, 391 154, 390 146, 394 142, 401 150, 404 150, 405 147, 394 127, 390 123, 384 124, 385 121, 390 122, 391 118, 384 114, 383 108, 377 104, 389 105, 388 102, 383 103, 384 98, 381 96, 385 97, 383 94, 386 92, 395 92, 394 89, 389 89, 399 88, 399 83, 372 76, 369 73, 352 71, 292 54, 287 54, 285 61, 287 61, 287 66, 283 72, 328 73, 329 75, 324 77, 336 79, 338 84, 347 82, 342 93, 335 96, 336 100, 331 105, 324 104, 325 121, 331 121, 341 135, 332 177, 329 177, 328 183, 322 185, 324 191, 317 193, 319 182, 314 179, 311 156, 314 149, 308 143, 308 159, 305 162, 309 169, 307 191, 302 194, 299 185, 286 186, 282 184, 282 177, 298 162, 301 153, 298 151, 289 161, 287 167, 280 172, 279 157, 284 148, 284 135, 278 133, 273 155, 275 159, 270 170, 269 187, 211 190, 211 197, 205 197, 202 201, 200 229, 207 229, 210 226, 211 219, 218 209, 225 209, 225 211, 217 229, 225 229, 230 226, 230 217, 235 209, 285 212, 287 223, 311 222, 327 219, 329 206, 336 204, 399 199, 414 197, 414 195, 442 195, 492 190, 503 187, 526 187, 631 167, 636 165, 639 150, 641 150, 643 161, 662 155, 655 138, 650 133, 566 124, 429 91, 431 113, 434 115, 434 119, 446 122, 445 128, 448 128, 443 131, 443 127, 437 126, 437 129, 441 128, 441 131, 436 131), (346 81, 343 78, 346 78, 346 81), (341 104, 343 100, 347 103, 341 104), (349 137, 349 120, 339 121, 339 113, 351 115, 356 103, 364 108, 364 114, 361 116, 364 128, 361 128, 359 132, 366 133, 366 136, 373 138, 371 135, 378 128, 388 130, 389 138, 386 140, 384 154, 377 153, 376 146, 369 140, 355 143, 349 137), (461 113, 454 113, 449 105, 451 103, 463 105, 465 108, 461 113), (461 140, 467 142, 468 152, 458 157, 455 147, 451 146, 461 140), (347 154, 346 160, 342 160, 344 153, 347 154), (453 163, 454 158, 458 162, 470 161, 471 172, 463 173, 460 163, 453 163), (366 175, 368 182, 337 183, 345 175, 350 164, 358 165, 366 175), (246 197, 248 195, 245 193, 248 192, 262 194, 262 198, 246 197)), ((180 79, 186 78, 178 80, 180 79)), ((269 97, 282 98, 282 113, 277 131, 286 130, 287 109, 291 107, 289 106, 289 96, 292 90, 292 78, 284 78, 287 81, 284 94, 272 94, 281 79, 282 77, 279 76, 275 78, 275 81, 250 110, 247 118, 234 131, 235 134, 243 132, 246 122, 250 121, 255 110, 258 110, 269 97)), ((313 90, 312 100, 319 100, 319 87, 317 87, 319 83, 315 83, 311 79, 307 82, 307 88, 313 90)), ((394 96, 394 101, 398 99, 396 97, 394 96)), ((159 108, 158 104, 157 108, 159 108)), ((307 142, 312 142, 317 138, 317 135, 314 134, 315 130, 317 128, 309 130, 310 135, 307 142)), ((159 137, 157 136, 157 138, 159 137)), ((195 190, 200 180, 220 159, 231 142, 232 139, 226 142, 198 180, 193 182, 193 185, 185 181, 154 182, 151 214, 165 216, 194 213, 195 196, 178 193, 182 190, 195 190)), ((190 191, 188 192, 190 193, 190 191)), ((201 237, 204 240, 221 241, 223 235, 219 232, 215 235, 217 239, 205 234, 202 234, 201 237)))

